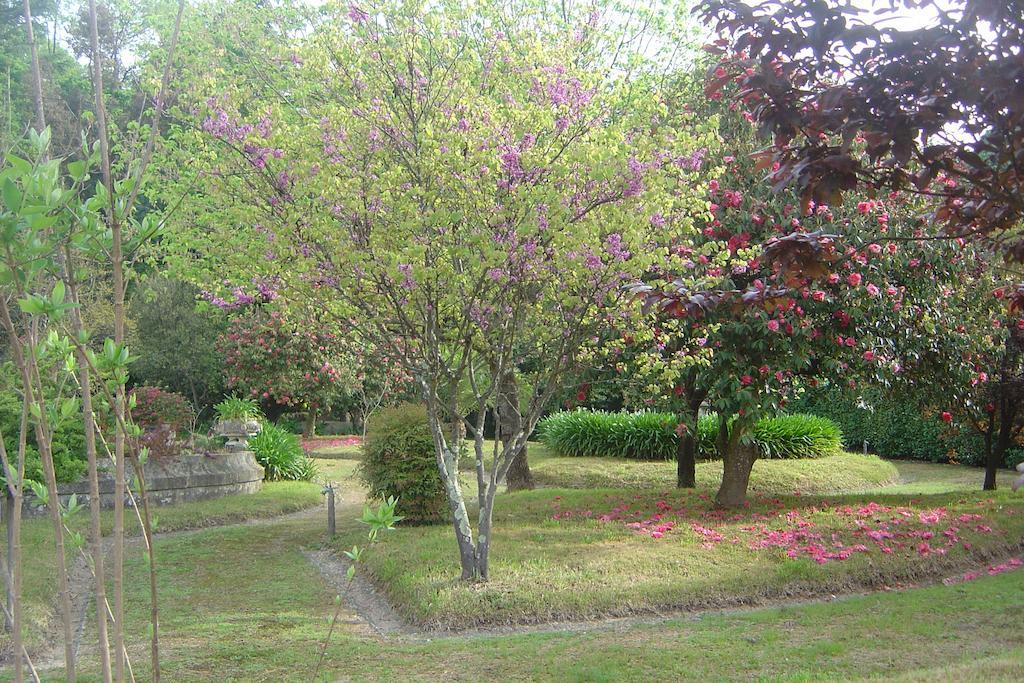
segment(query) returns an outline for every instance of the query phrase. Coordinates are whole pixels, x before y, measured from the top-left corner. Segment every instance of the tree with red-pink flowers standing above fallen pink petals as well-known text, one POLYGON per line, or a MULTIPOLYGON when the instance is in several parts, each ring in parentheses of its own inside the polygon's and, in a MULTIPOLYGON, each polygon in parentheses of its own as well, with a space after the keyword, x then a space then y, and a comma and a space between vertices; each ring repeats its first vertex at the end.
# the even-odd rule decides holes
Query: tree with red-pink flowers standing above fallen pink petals
POLYGON ((949 285, 973 261, 961 253, 964 243, 916 243, 921 228, 893 197, 812 204, 802 216, 797 196, 774 193, 737 160, 752 148, 752 130, 723 114, 736 156, 713 167, 718 177, 708 181, 711 212, 698 218, 698 237, 674 246, 634 288, 654 317, 617 350, 659 379, 648 391, 681 407, 681 484, 699 408, 733 416, 721 421, 717 497, 732 506, 745 497, 757 455, 749 428, 760 415, 781 410, 795 383, 885 385, 908 362, 931 358, 923 328, 934 326, 934 310, 948 308, 949 285))

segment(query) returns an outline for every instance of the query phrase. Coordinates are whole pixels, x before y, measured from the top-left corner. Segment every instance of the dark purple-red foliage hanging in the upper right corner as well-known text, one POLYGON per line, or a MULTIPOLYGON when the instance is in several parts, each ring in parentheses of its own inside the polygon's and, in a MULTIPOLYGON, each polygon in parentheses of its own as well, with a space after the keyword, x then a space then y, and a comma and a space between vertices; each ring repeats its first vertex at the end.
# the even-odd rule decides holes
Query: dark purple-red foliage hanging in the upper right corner
POLYGON ((805 208, 839 204, 862 183, 928 191, 938 200, 936 234, 992 240, 1024 258, 1015 152, 1024 147, 1024 102, 1011 48, 1024 41, 1021 3, 900 0, 876 10, 707 0, 698 11, 725 56, 709 92, 738 83, 737 97, 772 136, 762 157, 766 168, 775 162, 771 180, 796 185, 805 208), (886 20, 907 10, 934 16, 925 28, 886 20))

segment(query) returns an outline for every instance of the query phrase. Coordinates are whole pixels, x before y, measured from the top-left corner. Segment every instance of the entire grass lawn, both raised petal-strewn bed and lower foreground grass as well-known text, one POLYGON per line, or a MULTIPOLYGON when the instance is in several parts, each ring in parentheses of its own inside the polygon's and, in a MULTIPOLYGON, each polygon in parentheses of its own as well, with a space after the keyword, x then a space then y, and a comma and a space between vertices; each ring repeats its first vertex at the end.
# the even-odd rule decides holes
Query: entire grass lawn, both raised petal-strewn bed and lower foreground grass
MULTIPOLYGON (((340 537, 328 547, 362 545, 357 451, 313 455, 322 477, 341 484, 340 537)), ((421 624, 580 621, 926 584, 1005 559, 1024 531, 1024 498, 978 492, 977 469, 851 455, 759 462, 752 505, 721 514, 711 506, 714 463, 699 466, 700 488, 680 493, 673 463, 551 458, 543 447, 531 447, 530 460, 548 487, 499 497, 489 584, 455 581, 447 526, 400 527, 371 549, 364 570, 421 624), (776 493, 787 477, 805 495, 776 493), (872 490, 890 480, 898 483, 872 490), (577 487, 585 483, 604 487, 577 487), (869 493, 824 498, 840 486, 869 493)), ((201 527, 322 500, 316 484, 269 483, 256 496, 158 509, 160 530, 200 529, 158 540, 165 680, 309 680, 334 590, 303 551, 324 547, 324 520, 201 527)), ((25 531, 36 647, 47 622, 56 627, 47 531, 45 519, 25 531)), ((145 680, 147 583, 137 546, 126 571, 132 660, 145 680)), ((321 679, 1021 680, 1021 575, 656 624, 430 639, 382 640, 346 608, 321 679)), ((90 622, 82 680, 95 680, 92 642, 90 622)))

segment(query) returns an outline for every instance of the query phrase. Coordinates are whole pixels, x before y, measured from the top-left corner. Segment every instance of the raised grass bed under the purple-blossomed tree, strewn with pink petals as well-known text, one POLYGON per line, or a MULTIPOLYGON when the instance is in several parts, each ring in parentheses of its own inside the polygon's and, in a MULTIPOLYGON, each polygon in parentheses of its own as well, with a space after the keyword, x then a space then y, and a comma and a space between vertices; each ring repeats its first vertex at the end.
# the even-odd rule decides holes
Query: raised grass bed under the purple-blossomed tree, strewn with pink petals
MULTIPOLYGON (((954 545, 945 555, 919 557, 918 541, 912 540, 890 555, 867 544, 868 552, 818 564, 806 554, 787 557, 782 548, 752 548, 761 537, 748 529, 760 523, 780 531, 792 529, 784 513, 796 510, 827 546, 833 546, 833 533, 851 546, 864 542, 853 533, 852 517, 824 508, 819 498, 786 497, 762 498, 749 509, 720 518, 710 499, 708 490, 652 496, 645 489, 542 489, 508 495, 496 506, 487 584, 458 581, 456 547, 447 526, 399 528, 394 542, 368 558, 366 568, 410 621, 471 628, 650 614, 927 582, 1017 552, 1024 535, 1024 500, 1004 493, 834 498, 834 506, 860 507, 867 502, 904 506, 912 517, 906 528, 914 531, 927 530, 918 515, 938 507, 947 508, 950 519, 982 514, 978 523, 992 531, 962 525, 959 539, 971 544, 970 550, 954 545), (627 521, 650 518, 657 513, 657 501, 685 508, 671 517, 676 527, 660 539, 640 533, 624 521, 598 519, 620 505, 630 509, 627 521), (566 510, 572 512, 570 518, 554 518, 566 510), (724 540, 709 546, 691 523, 711 528, 724 540)), ((944 528, 935 527, 936 546, 944 528)), ((354 538, 343 538, 338 546, 352 542, 354 538)))

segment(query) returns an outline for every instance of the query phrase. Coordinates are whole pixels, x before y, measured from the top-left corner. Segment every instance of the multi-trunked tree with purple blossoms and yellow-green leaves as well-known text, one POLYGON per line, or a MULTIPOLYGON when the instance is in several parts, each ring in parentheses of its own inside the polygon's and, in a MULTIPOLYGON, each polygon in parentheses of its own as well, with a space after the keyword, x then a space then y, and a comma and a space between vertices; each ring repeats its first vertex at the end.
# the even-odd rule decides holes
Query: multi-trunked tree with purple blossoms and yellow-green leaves
POLYGON ((485 580, 498 485, 596 311, 647 269, 652 244, 690 230, 656 216, 695 201, 707 124, 668 114, 640 55, 602 56, 623 34, 600 10, 474 9, 397 2, 331 15, 271 55, 289 94, 266 115, 247 111, 255 97, 238 82, 191 93, 203 130, 179 143, 214 160, 208 190, 238 205, 180 215, 198 219, 181 244, 210 245, 219 272, 234 258, 234 272, 273 274, 286 299, 352 321, 408 370, 462 577, 485 580), (218 218, 242 206, 259 211, 250 224, 266 258, 216 248, 237 241, 238 223, 218 218), (510 380, 507 438, 485 452, 485 415, 510 380), (475 530, 458 476, 463 428, 475 446, 475 530))

